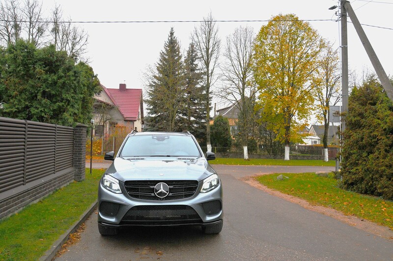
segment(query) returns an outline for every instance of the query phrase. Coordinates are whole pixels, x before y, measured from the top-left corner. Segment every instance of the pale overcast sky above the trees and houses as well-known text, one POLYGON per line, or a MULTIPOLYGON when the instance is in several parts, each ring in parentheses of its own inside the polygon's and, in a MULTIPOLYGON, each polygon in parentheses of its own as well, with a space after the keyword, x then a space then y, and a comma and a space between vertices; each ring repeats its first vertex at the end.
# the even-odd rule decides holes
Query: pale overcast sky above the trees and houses
MULTIPOLYGON (((386 27, 364 27, 382 66, 393 75, 393 0, 350 1, 362 24, 386 27)), ((301 20, 337 19, 337 0, 44 0, 43 8, 49 16, 55 3, 63 10, 63 17, 73 21, 200 21, 212 12, 216 20, 269 20, 279 13, 293 13, 301 20)), ((350 21, 350 19, 348 19, 350 21)), ((339 46, 339 23, 335 21, 309 22, 324 38, 339 46)), ((249 25, 257 33, 267 22, 218 23, 222 42, 235 28, 249 25)), ((190 35, 199 23, 111 23, 78 24, 89 34, 87 57, 105 87, 143 88, 143 73, 154 65, 167 40, 169 29, 182 51, 187 50, 190 35)), ((224 46, 222 47, 224 48, 224 46)), ((222 49, 223 50, 223 49, 222 49)), ((352 24, 348 23, 348 53, 350 70, 359 74, 364 68, 372 70, 352 24)), ((217 71, 218 72, 218 71, 217 71)))

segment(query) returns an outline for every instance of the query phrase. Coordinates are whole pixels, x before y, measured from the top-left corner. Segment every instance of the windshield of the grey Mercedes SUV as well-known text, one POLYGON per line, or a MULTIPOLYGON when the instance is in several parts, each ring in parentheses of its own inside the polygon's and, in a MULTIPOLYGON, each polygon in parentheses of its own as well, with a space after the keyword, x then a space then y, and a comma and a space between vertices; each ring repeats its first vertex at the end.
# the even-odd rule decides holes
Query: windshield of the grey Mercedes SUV
POLYGON ((193 138, 185 135, 129 136, 120 153, 121 157, 199 157, 193 138))

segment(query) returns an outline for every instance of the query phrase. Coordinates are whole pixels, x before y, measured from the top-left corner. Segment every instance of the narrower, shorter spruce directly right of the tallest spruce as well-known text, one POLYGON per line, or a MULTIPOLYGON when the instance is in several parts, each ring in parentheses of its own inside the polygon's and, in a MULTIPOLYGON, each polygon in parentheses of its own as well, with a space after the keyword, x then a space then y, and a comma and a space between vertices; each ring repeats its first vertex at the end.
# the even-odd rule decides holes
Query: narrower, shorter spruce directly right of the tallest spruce
POLYGON ((181 128, 194 134, 199 140, 206 137, 206 108, 204 106, 204 87, 201 85, 202 73, 198 67, 197 49, 190 43, 184 59, 185 87, 184 107, 180 111, 181 128))

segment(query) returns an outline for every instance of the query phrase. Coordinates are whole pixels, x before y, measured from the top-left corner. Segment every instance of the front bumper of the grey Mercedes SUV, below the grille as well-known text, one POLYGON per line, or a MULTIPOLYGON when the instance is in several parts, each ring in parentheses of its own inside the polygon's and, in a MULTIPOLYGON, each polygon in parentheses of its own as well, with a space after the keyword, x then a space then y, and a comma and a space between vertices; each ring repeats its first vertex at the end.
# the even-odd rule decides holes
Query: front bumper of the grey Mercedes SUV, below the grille
MULTIPOLYGON (((170 201, 151 201, 151 200, 138 200, 129 197, 124 193, 115 194, 99 185, 98 190, 98 222, 105 226, 112 227, 123 227, 123 226, 179 226, 179 225, 200 225, 200 226, 209 226, 215 225, 223 220, 223 190, 222 185, 216 189, 207 192, 207 193, 199 193, 200 187, 198 186, 197 192, 194 196, 181 199, 181 200, 170 200, 170 201), (209 206, 218 205, 220 209, 216 209, 211 211, 209 206), (109 207, 107 207, 109 206, 109 207), (177 208, 184 206, 186 209, 178 210, 180 212, 195 212, 197 215, 194 215, 192 219, 182 219, 182 218, 172 218, 171 220, 154 220, 154 216, 157 216, 157 213, 150 209, 160 208, 164 209, 168 208, 177 208), (137 207, 134 209, 143 208, 140 211, 142 214, 147 215, 146 222, 143 222, 143 217, 139 217, 139 220, 130 220, 128 217, 129 211, 135 212, 132 210, 133 207, 137 207), (147 209, 147 210, 146 210, 147 209), (152 211, 152 214, 148 214, 149 211, 152 211), (196 218, 197 217, 197 218, 196 218), (123 219, 124 218, 124 219, 123 219)), ((157 210, 157 211, 164 211, 157 210)), ((178 212, 176 212, 178 213, 178 212)))

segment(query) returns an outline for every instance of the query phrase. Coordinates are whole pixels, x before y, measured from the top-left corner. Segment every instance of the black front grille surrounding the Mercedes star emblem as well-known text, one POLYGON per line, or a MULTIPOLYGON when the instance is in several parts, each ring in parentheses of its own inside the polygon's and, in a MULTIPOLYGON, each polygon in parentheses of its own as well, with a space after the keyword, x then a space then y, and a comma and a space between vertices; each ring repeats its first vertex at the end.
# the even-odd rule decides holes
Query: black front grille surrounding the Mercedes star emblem
POLYGON ((192 197, 197 191, 197 180, 128 180, 124 182, 128 195, 140 200, 180 200, 192 197), (160 182, 169 186, 169 194, 159 198, 154 187, 160 182))

